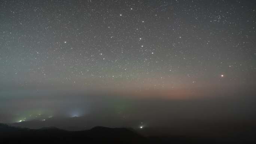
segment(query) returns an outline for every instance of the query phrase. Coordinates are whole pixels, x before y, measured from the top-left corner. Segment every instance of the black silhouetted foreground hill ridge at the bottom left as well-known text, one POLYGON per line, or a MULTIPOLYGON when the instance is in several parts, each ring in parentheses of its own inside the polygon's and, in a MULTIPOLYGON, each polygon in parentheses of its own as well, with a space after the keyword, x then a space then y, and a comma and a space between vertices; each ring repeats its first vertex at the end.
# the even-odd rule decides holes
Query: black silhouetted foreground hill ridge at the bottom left
POLYGON ((0 124, 0 140, 3 144, 49 143, 111 143, 143 144, 147 139, 127 128, 97 126, 86 131, 65 131, 58 128, 27 129, 0 124))

